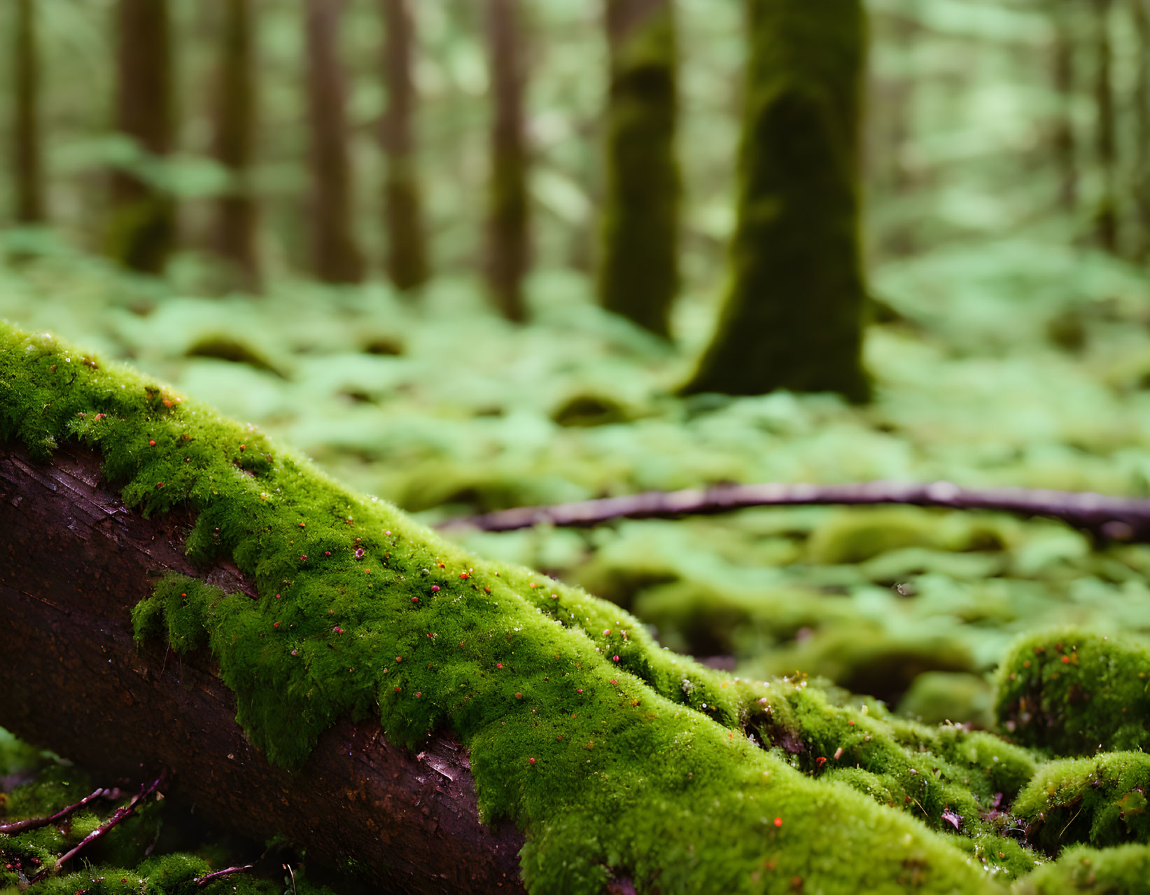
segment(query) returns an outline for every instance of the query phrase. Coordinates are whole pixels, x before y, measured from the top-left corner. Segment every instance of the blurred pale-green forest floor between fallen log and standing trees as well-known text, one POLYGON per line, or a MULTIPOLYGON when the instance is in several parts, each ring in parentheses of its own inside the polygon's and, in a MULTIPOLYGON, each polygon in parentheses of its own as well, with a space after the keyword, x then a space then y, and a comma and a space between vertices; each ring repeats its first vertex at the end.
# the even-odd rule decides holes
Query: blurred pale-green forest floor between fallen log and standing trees
MULTIPOLYGON (((537 274, 534 322, 476 284, 197 297, 202 266, 133 280, 48 243, 0 268, 0 318, 130 360, 434 522, 719 482, 950 480, 1150 496, 1150 281, 1095 253, 972 243, 873 271, 875 401, 674 397, 674 349, 537 274)), ((915 508, 751 510, 590 531, 461 536, 632 610, 660 642, 739 673, 802 671, 927 721, 989 722, 1009 642, 1063 624, 1150 635, 1150 546, 915 508)))

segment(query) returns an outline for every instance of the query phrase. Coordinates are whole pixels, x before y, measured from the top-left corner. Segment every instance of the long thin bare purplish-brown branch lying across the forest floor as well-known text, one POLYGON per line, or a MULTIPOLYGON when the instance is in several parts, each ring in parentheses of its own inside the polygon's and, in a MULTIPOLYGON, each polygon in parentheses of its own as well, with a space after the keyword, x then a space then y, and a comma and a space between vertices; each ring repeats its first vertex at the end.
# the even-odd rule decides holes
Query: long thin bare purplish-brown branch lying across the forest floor
POLYGON ((1027 488, 960 488, 950 482, 915 484, 731 484, 685 491, 645 491, 553 506, 521 506, 483 515, 448 519, 439 528, 512 531, 535 525, 585 527, 612 519, 673 519, 714 515, 751 506, 872 506, 905 504, 951 510, 997 510, 1023 517, 1060 519, 1099 541, 1150 543, 1150 500, 1107 497, 1089 491, 1027 488))

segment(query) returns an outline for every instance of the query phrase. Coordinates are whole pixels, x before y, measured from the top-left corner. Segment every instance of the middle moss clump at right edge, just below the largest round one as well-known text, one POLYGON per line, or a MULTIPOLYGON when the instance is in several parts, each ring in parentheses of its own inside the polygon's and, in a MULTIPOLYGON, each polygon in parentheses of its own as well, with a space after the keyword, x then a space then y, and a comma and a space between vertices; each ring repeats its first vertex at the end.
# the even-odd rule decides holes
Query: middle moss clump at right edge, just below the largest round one
POLYGON ((1029 825, 1027 837, 1051 854, 1078 842, 1150 843, 1148 793, 1150 755, 1106 752, 1043 765, 1014 812, 1029 825))

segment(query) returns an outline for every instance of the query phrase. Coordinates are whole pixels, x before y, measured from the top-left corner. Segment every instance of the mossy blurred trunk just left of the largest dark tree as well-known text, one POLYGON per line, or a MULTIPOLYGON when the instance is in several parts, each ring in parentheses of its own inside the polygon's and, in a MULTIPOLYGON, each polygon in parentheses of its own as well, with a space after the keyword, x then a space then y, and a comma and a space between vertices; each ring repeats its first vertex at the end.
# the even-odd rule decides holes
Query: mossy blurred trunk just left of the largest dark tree
POLYGON ((678 289, 676 51, 672 0, 607 0, 611 91, 599 300, 670 335, 678 289))

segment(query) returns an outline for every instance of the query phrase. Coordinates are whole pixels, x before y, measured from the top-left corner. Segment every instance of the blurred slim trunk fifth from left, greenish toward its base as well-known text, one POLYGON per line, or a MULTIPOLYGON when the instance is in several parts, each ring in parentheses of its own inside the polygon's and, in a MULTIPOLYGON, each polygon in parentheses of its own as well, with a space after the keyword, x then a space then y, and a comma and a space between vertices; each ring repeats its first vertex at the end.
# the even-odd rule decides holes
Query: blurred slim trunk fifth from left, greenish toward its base
POLYGON ((428 278, 427 238, 412 121, 415 110, 412 83, 415 24, 408 2, 382 0, 386 28, 383 70, 388 85, 388 112, 383 118, 382 137, 388 159, 384 184, 388 275, 400 291, 415 289, 428 278))

